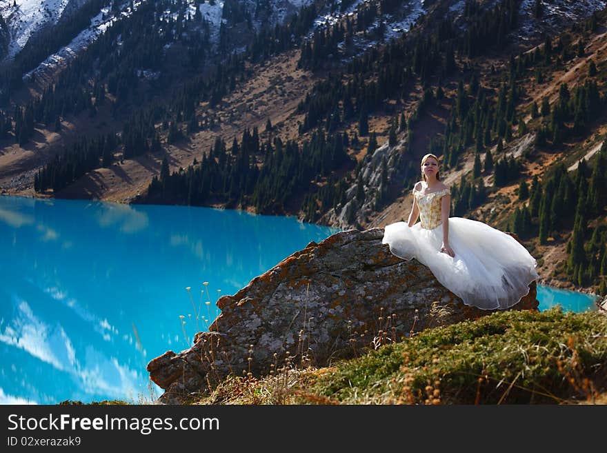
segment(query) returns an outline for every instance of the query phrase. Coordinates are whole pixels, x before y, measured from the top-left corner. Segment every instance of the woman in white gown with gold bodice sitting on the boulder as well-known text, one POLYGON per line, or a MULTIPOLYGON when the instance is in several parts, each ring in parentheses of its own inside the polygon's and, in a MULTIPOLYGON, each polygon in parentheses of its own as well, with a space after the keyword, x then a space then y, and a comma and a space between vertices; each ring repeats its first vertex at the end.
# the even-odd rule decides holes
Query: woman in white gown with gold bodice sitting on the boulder
POLYGON ((533 256, 513 236, 486 223, 449 218, 450 189, 440 181, 434 154, 421 159, 421 176, 408 221, 386 225, 381 243, 399 258, 428 266, 466 305, 494 310, 518 303, 539 277, 533 256))

